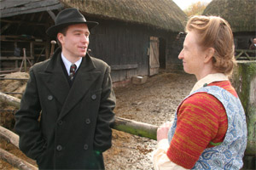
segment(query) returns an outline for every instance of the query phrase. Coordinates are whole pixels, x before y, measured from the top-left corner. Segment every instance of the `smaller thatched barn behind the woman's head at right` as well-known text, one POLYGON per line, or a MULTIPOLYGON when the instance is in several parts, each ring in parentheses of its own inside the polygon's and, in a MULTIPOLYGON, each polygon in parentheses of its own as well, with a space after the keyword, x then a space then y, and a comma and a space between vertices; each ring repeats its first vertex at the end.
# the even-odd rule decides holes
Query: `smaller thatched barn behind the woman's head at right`
POLYGON ((212 0, 205 15, 218 15, 230 23, 236 49, 248 49, 250 39, 256 37, 255 0, 212 0))

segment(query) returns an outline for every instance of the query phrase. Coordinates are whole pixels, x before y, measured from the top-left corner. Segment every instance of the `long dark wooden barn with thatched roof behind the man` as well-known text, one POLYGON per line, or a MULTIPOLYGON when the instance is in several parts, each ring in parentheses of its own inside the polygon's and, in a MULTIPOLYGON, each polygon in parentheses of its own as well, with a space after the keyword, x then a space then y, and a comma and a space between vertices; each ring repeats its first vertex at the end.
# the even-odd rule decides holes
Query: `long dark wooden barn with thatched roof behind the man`
POLYGON ((1 69, 22 61, 23 48, 34 62, 49 58, 45 31, 63 8, 79 8, 100 23, 90 34, 90 54, 111 65, 113 82, 175 69, 182 48, 177 34, 186 15, 172 0, 1 1, 1 69))

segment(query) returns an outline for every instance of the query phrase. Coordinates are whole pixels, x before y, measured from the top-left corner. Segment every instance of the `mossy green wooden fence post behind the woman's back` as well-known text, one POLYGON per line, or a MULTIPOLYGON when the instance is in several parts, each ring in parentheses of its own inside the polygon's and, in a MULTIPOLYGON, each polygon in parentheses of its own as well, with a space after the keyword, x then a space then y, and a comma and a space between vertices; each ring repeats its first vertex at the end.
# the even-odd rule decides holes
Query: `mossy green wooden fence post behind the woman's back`
POLYGON ((256 61, 238 61, 232 75, 232 84, 236 88, 247 117, 245 166, 253 168, 256 155, 256 61))

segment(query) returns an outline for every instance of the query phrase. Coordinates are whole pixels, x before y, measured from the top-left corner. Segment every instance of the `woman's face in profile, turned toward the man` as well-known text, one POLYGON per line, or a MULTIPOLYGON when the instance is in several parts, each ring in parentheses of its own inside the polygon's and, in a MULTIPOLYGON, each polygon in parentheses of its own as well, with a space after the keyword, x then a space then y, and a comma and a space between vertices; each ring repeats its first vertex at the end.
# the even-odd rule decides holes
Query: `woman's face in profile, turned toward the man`
POLYGON ((199 80, 204 69, 205 51, 202 50, 197 40, 198 34, 195 31, 189 31, 178 59, 183 59, 183 70, 189 74, 194 74, 199 80))

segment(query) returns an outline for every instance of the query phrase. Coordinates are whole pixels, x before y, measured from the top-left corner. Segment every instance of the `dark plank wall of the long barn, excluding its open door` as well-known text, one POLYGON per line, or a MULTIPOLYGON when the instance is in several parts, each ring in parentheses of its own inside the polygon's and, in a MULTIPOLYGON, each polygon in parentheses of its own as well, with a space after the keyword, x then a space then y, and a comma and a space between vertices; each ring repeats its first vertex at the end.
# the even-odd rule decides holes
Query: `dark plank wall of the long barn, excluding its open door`
POLYGON ((149 37, 160 38, 161 68, 168 69, 172 55, 177 56, 179 53, 179 48, 173 45, 176 43, 177 33, 116 20, 87 20, 100 23, 91 31, 90 54, 111 65, 113 82, 148 75, 149 37))

